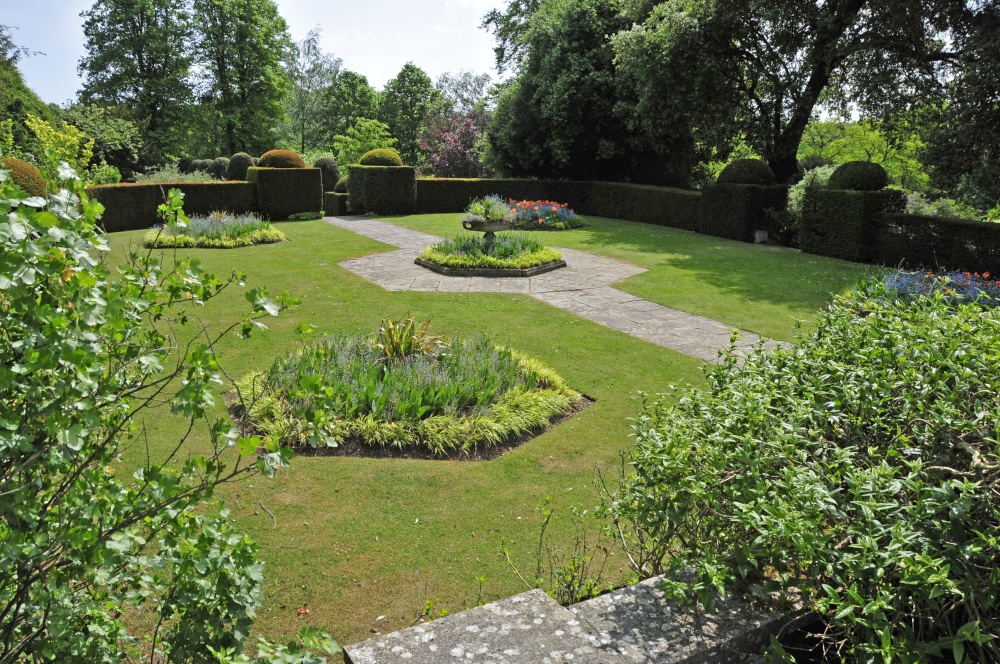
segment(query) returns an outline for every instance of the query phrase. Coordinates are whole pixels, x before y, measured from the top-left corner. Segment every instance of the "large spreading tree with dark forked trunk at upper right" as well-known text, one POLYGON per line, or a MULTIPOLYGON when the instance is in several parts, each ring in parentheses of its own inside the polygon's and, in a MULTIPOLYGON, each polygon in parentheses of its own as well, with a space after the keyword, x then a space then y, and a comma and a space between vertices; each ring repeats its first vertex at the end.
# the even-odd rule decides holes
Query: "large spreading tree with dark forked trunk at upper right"
POLYGON ((633 0, 613 39, 632 117, 650 137, 695 128, 724 144, 743 133, 778 175, 797 170, 821 102, 885 116, 941 82, 966 0, 633 0))

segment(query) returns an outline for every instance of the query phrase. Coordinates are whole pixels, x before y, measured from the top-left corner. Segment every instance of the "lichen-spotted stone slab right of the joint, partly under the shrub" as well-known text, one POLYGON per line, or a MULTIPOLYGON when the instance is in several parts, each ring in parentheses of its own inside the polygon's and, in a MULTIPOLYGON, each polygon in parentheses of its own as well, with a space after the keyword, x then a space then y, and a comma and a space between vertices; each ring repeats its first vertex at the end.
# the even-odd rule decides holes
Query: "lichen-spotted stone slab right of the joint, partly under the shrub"
POLYGON ((600 643, 629 664, 763 662, 772 634, 788 633, 815 619, 807 612, 762 613, 738 597, 706 613, 698 605, 667 600, 662 577, 575 604, 570 610, 600 643))

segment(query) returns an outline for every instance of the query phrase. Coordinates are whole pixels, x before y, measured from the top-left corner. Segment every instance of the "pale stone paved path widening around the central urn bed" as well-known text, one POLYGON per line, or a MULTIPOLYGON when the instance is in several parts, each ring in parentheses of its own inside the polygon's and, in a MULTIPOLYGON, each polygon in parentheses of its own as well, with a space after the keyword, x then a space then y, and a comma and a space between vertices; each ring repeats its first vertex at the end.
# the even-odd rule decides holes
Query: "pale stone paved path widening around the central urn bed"
MULTIPOLYGON (((367 217, 327 217, 327 223, 399 247, 340 263, 351 272, 389 291, 447 293, 521 293, 582 318, 664 346, 685 355, 714 361, 729 345, 733 328, 684 313, 611 288, 646 270, 623 261, 575 249, 563 249, 566 267, 537 277, 446 277, 416 265, 421 251, 441 238, 367 217)), ((741 349, 759 339, 741 332, 741 349)), ((767 347, 777 347, 768 342, 767 347)))

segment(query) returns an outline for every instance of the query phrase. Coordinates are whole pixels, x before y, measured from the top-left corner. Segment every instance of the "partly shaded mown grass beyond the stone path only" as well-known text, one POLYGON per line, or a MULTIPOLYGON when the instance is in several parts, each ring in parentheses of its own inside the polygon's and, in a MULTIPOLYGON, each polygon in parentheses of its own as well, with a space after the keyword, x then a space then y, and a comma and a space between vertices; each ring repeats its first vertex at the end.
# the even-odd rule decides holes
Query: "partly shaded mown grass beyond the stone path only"
MULTIPOLYGON (((425 233, 463 232, 461 214, 387 217, 425 233)), ((651 302, 721 321, 749 332, 791 341, 801 322, 857 282, 869 268, 795 249, 733 242, 674 228, 582 217, 586 226, 538 232, 554 247, 627 261, 648 272, 616 286, 651 302)))

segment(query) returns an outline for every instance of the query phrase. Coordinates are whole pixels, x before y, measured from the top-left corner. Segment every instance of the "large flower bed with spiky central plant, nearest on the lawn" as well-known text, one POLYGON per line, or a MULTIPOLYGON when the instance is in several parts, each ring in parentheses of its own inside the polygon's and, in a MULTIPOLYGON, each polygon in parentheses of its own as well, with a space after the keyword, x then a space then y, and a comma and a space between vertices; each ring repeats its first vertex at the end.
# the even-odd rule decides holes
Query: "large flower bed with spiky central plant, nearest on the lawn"
POLYGON ((272 440, 435 456, 504 444, 580 399, 537 360, 485 338, 436 337, 411 319, 327 337, 238 387, 252 404, 240 415, 272 440))

